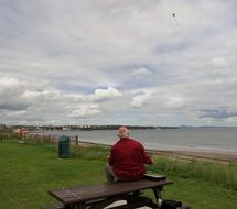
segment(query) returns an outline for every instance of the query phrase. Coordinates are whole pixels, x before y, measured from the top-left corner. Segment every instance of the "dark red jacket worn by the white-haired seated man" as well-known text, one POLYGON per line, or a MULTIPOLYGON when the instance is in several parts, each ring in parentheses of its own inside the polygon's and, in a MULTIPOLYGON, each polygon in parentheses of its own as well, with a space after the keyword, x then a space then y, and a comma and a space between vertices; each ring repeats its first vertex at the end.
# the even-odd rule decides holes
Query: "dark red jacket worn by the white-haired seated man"
POLYGON ((128 180, 140 179, 146 173, 144 163, 152 163, 142 144, 129 138, 120 139, 111 147, 108 162, 116 176, 128 180))

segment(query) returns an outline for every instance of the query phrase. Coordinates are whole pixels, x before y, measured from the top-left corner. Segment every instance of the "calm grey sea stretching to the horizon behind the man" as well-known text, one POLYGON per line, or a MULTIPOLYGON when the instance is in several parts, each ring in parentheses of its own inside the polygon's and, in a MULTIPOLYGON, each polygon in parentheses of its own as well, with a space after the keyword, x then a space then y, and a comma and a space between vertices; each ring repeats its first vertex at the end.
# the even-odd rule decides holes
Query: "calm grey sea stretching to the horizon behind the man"
MULTIPOLYGON (((118 141, 116 130, 49 131, 44 135, 68 135, 72 140, 112 145, 118 141)), ((147 150, 191 151, 237 154, 237 128, 177 128, 130 130, 130 138, 147 150)))

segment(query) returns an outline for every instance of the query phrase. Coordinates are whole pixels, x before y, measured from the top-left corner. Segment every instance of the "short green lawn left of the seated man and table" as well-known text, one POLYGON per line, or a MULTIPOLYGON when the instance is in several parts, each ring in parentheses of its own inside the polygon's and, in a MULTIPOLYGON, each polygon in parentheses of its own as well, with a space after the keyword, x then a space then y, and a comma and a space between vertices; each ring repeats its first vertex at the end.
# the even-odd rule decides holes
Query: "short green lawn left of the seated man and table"
POLYGON ((57 157, 55 144, 0 142, 0 208, 40 208, 47 189, 105 182, 105 162, 57 157))

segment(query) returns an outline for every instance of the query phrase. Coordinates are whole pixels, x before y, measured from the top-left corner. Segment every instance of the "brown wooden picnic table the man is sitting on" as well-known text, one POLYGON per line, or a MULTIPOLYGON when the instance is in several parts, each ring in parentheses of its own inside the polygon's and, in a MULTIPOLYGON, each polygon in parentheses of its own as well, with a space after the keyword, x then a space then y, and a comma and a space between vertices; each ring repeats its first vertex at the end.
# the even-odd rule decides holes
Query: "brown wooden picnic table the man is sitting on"
POLYGON ((158 204, 149 197, 143 197, 142 190, 152 189, 155 199, 162 198, 161 191, 165 185, 172 184, 165 176, 146 175, 140 180, 116 182, 89 186, 74 186, 50 189, 47 193, 61 205, 43 207, 43 209, 103 209, 103 208, 139 208, 148 206, 158 208, 158 204), (126 200, 122 206, 109 207, 115 201, 126 200))

